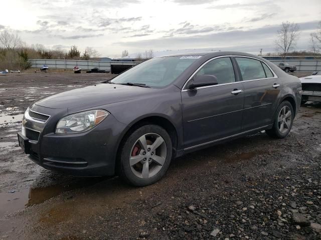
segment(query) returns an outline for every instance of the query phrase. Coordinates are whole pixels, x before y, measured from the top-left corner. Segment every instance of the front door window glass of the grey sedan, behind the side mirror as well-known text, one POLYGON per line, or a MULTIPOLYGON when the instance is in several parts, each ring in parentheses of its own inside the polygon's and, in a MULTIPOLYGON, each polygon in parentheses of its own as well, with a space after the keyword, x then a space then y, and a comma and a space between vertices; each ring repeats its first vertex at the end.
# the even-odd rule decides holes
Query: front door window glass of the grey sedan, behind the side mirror
POLYGON ((205 64, 196 75, 214 75, 219 84, 235 82, 234 69, 230 57, 221 57, 205 64))

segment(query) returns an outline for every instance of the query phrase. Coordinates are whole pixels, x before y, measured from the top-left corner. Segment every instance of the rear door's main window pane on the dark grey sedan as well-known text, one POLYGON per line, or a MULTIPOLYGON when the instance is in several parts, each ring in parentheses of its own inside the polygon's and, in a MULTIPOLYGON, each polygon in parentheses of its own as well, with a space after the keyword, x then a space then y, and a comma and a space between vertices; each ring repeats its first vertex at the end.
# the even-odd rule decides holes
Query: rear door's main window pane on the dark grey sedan
POLYGON ((266 77, 261 61, 246 57, 235 57, 235 59, 240 67, 243 81, 266 77))

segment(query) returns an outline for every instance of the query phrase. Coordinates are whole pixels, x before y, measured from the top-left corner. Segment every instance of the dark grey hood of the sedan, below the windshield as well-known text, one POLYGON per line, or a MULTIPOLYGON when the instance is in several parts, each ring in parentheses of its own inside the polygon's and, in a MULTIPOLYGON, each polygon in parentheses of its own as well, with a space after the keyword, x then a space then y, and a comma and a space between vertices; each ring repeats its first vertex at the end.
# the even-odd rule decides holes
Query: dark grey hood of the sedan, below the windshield
POLYGON ((61 92, 36 102, 36 105, 49 108, 68 108, 82 104, 92 103, 93 106, 105 105, 115 102, 128 101, 141 94, 156 89, 139 86, 101 83, 93 86, 61 92))

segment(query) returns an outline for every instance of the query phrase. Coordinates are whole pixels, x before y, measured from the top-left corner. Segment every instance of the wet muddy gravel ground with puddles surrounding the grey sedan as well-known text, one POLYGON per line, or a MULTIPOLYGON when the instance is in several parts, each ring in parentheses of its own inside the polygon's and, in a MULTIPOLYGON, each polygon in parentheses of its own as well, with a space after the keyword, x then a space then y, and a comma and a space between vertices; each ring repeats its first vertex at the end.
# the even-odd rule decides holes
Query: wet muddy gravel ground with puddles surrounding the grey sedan
POLYGON ((22 153, 30 103, 110 77, 0 76, 0 239, 321 239, 321 103, 301 107, 285 139, 258 132, 184 155, 147 187, 52 173, 22 153))

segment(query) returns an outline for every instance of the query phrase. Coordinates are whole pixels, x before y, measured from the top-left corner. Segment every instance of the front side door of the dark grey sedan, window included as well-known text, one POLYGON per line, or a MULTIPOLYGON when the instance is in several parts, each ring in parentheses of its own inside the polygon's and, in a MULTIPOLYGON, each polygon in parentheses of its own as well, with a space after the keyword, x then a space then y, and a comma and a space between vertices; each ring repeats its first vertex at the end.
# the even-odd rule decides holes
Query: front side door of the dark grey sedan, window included
POLYGON ((213 59, 194 76, 202 74, 215 75, 219 84, 183 89, 185 149, 241 131, 243 85, 236 81, 231 58, 213 59))

